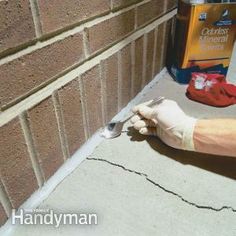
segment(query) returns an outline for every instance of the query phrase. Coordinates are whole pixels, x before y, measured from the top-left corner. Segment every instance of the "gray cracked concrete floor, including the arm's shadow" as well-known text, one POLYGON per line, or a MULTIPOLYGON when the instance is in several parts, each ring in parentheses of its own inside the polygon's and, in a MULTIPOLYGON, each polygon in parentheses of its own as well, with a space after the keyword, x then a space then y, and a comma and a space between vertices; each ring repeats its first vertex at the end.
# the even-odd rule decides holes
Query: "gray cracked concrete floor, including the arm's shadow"
MULTIPOLYGON (((199 118, 236 116, 236 106, 201 105, 188 100, 185 89, 166 74, 143 100, 175 99, 199 118)), ((119 138, 104 140, 40 206, 95 212, 97 226, 20 226, 12 235, 235 236, 235 179, 236 159, 175 150, 127 124, 119 138)))

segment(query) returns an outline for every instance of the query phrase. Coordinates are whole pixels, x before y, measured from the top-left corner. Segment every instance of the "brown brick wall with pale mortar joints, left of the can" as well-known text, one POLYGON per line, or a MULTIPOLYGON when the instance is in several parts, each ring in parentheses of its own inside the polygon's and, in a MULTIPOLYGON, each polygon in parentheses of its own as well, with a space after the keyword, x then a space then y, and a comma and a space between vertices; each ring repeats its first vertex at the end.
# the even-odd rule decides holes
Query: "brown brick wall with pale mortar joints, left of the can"
POLYGON ((175 7, 0 1, 0 224, 162 70, 175 7))

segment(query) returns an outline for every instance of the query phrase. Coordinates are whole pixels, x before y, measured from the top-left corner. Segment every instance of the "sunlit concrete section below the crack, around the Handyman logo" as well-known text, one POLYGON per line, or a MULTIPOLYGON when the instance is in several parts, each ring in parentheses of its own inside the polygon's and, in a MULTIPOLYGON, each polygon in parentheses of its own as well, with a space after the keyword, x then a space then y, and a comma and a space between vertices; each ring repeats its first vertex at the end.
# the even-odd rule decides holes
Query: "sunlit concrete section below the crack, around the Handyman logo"
MULTIPOLYGON (((85 161, 41 206, 65 212, 95 211, 97 226, 22 227, 16 235, 235 235, 236 216, 231 209, 199 208, 183 200, 188 196, 175 195, 167 183, 160 187, 157 178, 91 159, 97 157, 85 161)), ((194 192, 201 192, 199 187, 194 192)))

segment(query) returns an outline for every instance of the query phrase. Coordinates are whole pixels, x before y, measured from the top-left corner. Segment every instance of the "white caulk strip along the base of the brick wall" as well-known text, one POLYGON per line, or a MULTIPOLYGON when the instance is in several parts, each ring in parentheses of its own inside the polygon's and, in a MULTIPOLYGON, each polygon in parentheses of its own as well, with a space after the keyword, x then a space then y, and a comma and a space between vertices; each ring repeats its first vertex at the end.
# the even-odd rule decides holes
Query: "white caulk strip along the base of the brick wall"
MULTIPOLYGON (((118 114, 113 117, 113 120, 121 120, 130 114, 130 110, 133 106, 139 104, 141 99, 154 84, 158 83, 167 70, 164 68, 149 84, 147 84, 143 90, 132 99, 126 107, 124 107, 118 114)), ((35 209, 37 208, 47 197, 54 191, 54 189, 69 176, 88 156, 90 156, 95 148, 104 140, 100 136, 101 129, 98 130, 82 147, 77 150, 74 155, 68 159, 43 185, 42 188, 35 191, 21 206, 19 209, 35 209)), ((11 218, 0 228, 0 235, 7 236, 15 226, 11 224, 11 218)))

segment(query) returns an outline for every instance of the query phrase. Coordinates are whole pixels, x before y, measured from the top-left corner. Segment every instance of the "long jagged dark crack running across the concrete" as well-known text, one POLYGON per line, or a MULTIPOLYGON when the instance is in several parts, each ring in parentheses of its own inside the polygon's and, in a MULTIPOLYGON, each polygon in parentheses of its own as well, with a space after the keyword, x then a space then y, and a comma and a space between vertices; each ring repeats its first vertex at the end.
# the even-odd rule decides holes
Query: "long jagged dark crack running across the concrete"
POLYGON ((198 209, 205 209, 205 210, 212 210, 212 211, 216 211, 216 212, 219 212, 219 211, 222 211, 222 210, 231 210, 232 212, 236 212, 236 209, 234 209, 233 207, 231 206, 222 206, 221 208, 214 208, 214 207, 211 207, 211 206, 204 206, 204 205, 198 205, 194 202, 190 202, 189 200, 183 198, 181 195, 179 195, 178 193, 175 193, 171 190, 168 190, 166 189, 165 187, 163 187, 162 185, 154 182, 153 180, 151 180, 147 174, 144 174, 142 172, 138 172, 138 171, 135 171, 135 170, 131 170, 131 169, 128 169, 120 164, 116 164, 116 163, 113 163, 113 162, 110 162, 108 160, 105 160, 105 159, 101 159, 101 158, 90 158, 88 157, 87 160, 89 161, 100 161, 100 162, 105 162, 107 164, 110 164, 112 166, 116 166, 116 167, 119 167, 121 169, 123 169, 124 171, 127 171, 127 172, 130 172, 130 173, 133 173, 133 174, 136 174, 136 175, 139 175, 141 177, 144 177, 149 183, 151 183, 152 185, 160 188, 161 190, 163 190, 164 192, 166 193, 169 193, 177 198, 179 198, 181 201, 187 203, 188 205, 191 205, 193 207, 196 207, 198 209))

